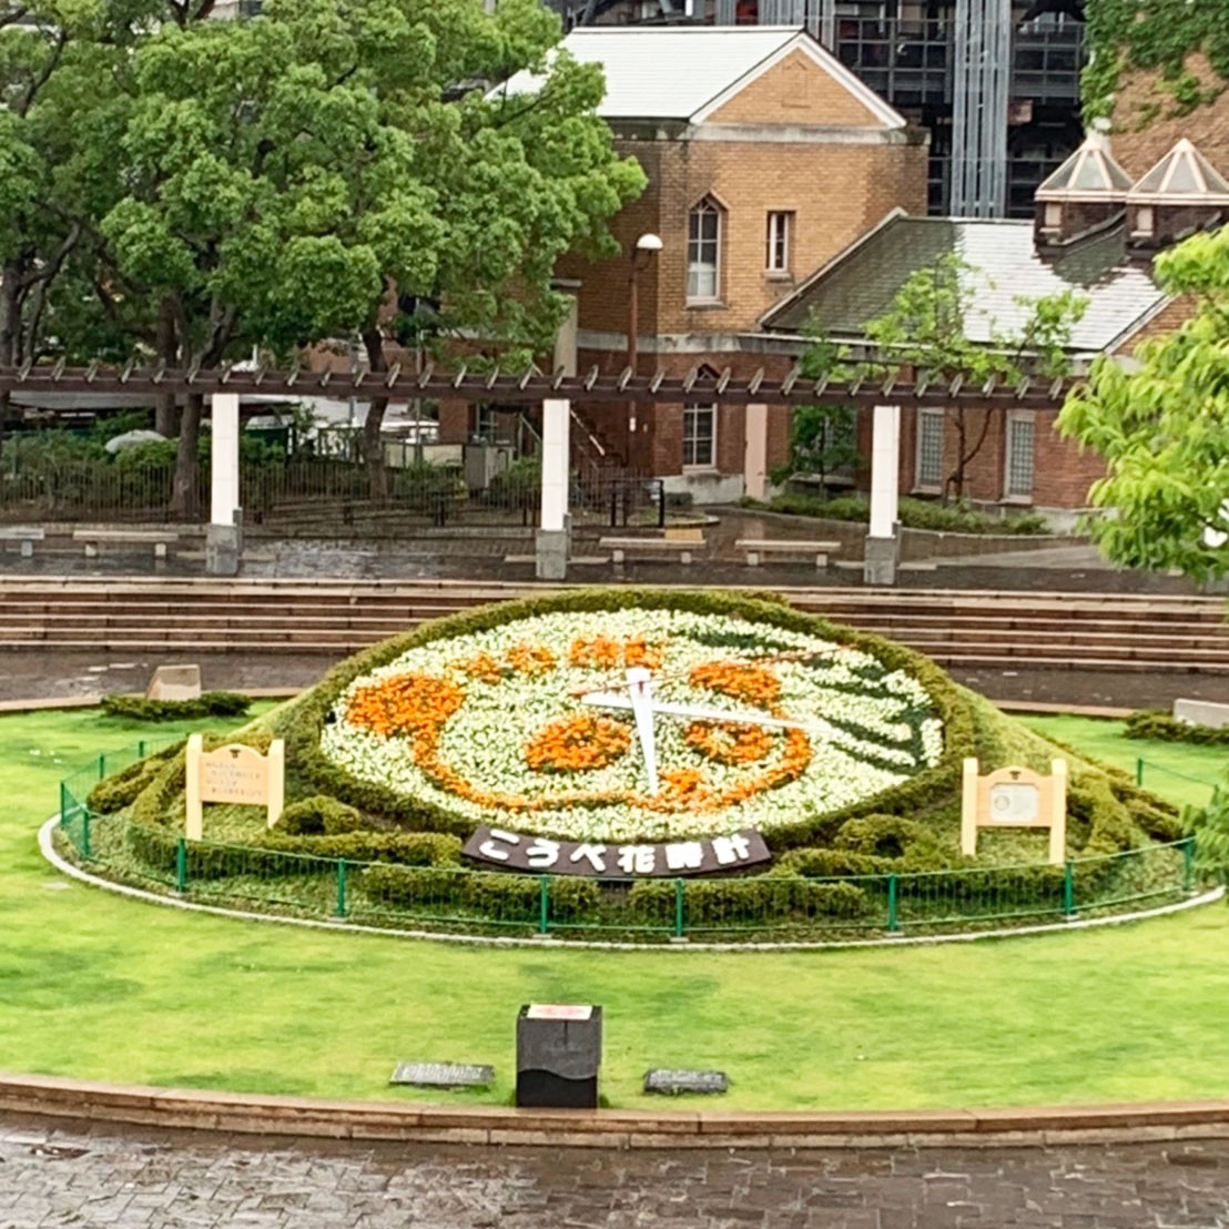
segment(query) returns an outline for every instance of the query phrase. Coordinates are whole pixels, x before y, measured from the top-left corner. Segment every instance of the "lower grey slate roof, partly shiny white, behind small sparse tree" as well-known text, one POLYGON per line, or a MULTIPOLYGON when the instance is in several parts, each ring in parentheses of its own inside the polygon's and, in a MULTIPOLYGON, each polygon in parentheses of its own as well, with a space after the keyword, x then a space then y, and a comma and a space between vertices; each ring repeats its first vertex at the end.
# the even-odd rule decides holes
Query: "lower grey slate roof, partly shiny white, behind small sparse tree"
POLYGON ((1089 300, 1072 331, 1070 350, 1112 349, 1168 301, 1145 269, 1126 259, 1121 226, 1075 245, 1056 259, 1034 248, 1031 221, 908 218, 895 213, 864 240, 805 281, 761 321, 772 333, 800 333, 814 311, 833 338, 860 339, 869 321, 882 316, 896 291, 917 269, 956 253, 982 272, 976 305, 966 321, 970 340, 1013 333, 1027 318, 1018 295, 1074 290, 1089 300))

